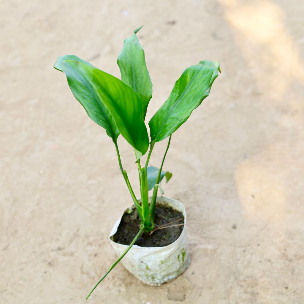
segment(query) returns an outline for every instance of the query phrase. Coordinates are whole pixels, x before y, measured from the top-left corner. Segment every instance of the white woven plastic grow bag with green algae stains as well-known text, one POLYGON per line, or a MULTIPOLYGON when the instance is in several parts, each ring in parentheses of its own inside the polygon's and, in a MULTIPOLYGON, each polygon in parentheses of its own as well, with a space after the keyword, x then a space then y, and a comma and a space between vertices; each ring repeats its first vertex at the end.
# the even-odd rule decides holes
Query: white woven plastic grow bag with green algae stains
MULTIPOLYGON (((171 206, 183 214, 185 225, 183 226, 181 235, 175 242, 164 247, 140 247, 133 245, 121 260, 123 266, 135 275, 136 278, 145 284, 153 286, 159 286, 164 282, 175 279, 181 275, 190 264, 190 255, 186 240, 186 211, 184 205, 175 199, 164 196, 157 197, 156 202, 160 205, 171 206)), ((117 231, 122 216, 113 226, 109 236, 110 243, 118 256, 121 256, 128 247, 127 245, 117 244, 113 241, 113 236, 117 231)))

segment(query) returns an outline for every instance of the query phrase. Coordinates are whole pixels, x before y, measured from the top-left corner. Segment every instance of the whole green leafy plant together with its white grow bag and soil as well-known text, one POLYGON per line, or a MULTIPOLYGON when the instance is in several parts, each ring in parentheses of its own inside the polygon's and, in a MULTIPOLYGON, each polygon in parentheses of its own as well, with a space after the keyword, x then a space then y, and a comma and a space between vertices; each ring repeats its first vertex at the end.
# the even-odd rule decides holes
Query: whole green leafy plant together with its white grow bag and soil
POLYGON ((112 139, 121 173, 133 199, 133 206, 123 212, 109 237, 119 258, 92 291, 127 252, 129 254, 122 263, 137 278, 149 285, 160 285, 176 278, 190 263, 185 238, 185 208, 174 199, 157 197, 157 192, 160 189, 164 193, 161 180, 165 178, 168 182, 172 175, 163 171, 172 133, 209 95, 220 68, 217 62, 200 61, 185 69, 175 82, 168 99, 150 119, 149 140, 144 119, 152 97, 152 82, 143 48, 136 36, 140 28, 124 41, 118 56, 117 64, 122 80, 74 55, 61 56, 54 65, 55 69, 66 74, 74 97, 88 116, 102 126, 112 139), (127 172, 123 169, 117 145, 119 134, 134 148, 139 172, 140 199, 136 198, 127 172), (169 138, 168 145, 160 168, 149 167, 154 147, 166 138, 169 138), (142 163, 141 157, 147 151, 147 159, 142 163), (148 191, 152 189, 153 193, 149 198, 148 191))

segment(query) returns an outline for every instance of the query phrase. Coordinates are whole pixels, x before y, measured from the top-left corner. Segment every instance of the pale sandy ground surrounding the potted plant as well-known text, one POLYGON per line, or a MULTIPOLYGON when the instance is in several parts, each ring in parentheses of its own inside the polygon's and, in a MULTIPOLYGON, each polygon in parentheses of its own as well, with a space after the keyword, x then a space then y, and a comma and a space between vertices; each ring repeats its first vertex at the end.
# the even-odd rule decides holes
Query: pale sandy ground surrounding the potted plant
POLYGON ((85 303, 114 261, 107 237, 132 200, 111 140, 52 65, 76 54, 119 76, 123 39, 144 24, 147 119, 185 67, 222 68, 164 166, 192 263, 161 287, 118 265, 88 302, 304 303, 303 15, 301 0, 0 0, 0 302, 85 303))

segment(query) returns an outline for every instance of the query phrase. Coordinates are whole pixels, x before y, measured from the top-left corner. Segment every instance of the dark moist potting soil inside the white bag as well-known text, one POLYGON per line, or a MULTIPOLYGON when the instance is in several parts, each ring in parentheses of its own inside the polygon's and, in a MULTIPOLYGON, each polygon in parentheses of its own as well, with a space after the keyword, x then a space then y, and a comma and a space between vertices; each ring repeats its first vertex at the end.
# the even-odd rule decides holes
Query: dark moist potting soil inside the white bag
MULTIPOLYGON (((118 244, 130 245, 134 237, 138 233, 140 227, 140 218, 137 210, 132 209, 131 213, 125 213, 120 221, 117 232, 113 236, 113 241, 118 244)), ((169 226, 184 223, 184 216, 181 212, 172 209, 169 206, 156 205, 154 229, 161 225, 168 224, 169 226), (177 221, 181 219, 180 221, 177 221), (174 222, 177 221, 177 222, 174 222), (172 224, 168 224, 174 222, 172 224)), ((167 226, 167 225, 166 225, 167 226)), ((170 245, 178 239, 184 225, 173 226, 164 229, 157 229, 151 235, 143 233, 135 244, 141 247, 163 247, 170 245)))

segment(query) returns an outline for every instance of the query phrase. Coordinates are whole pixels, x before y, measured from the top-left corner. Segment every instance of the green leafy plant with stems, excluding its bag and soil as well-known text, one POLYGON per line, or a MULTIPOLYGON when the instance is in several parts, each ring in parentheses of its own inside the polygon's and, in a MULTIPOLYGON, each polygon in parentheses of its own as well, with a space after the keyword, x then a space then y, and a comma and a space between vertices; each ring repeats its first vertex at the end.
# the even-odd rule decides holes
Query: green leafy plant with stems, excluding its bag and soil
POLYGON ((117 64, 121 72, 121 80, 75 55, 61 56, 54 65, 55 69, 66 74, 68 85, 74 97, 84 107, 88 116, 103 127, 112 139, 120 171, 140 217, 140 226, 136 237, 92 291, 130 250, 138 237, 142 233, 150 233, 154 229, 158 188, 164 193, 160 182, 164 177, 168 181, 172 175, 162 170, 172 133, 189 118, 192 111, 209 95, 212 83, 220 72, 218 62, 207 60, 187 67, 175 82, 168 99, 150 119, 149 140, 144 120, 152 97, 152 82, 147 70, 143 48, 136 36, 140 28, 136 29, 133 35, 124 41, 123 49, 118 56, 117 64), (123 169, 117 145, 119 134, 134 148, 139 172, 140 200, 136 198, 128 174, 123 169), (150 156, 156 143, 166 138, 169 138, 168 145, 160 168, 149 167, 150 156), (142 164, 141 157, 147 151, 146 162, 142 164), (149 203, 148 191, 151 189, 153 189, 153 195, 149 203))

